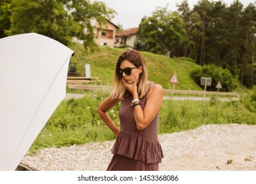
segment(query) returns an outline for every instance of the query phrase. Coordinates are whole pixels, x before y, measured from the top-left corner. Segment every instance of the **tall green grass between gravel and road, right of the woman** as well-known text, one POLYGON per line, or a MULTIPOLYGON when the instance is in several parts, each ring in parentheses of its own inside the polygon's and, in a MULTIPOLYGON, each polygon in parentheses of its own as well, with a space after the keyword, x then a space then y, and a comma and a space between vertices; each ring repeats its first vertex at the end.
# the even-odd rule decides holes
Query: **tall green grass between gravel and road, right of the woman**
POLYGON ((164 101, 159 133, 195 129, 206 124, 256 124, 256 114, 242 101, 164 101))

